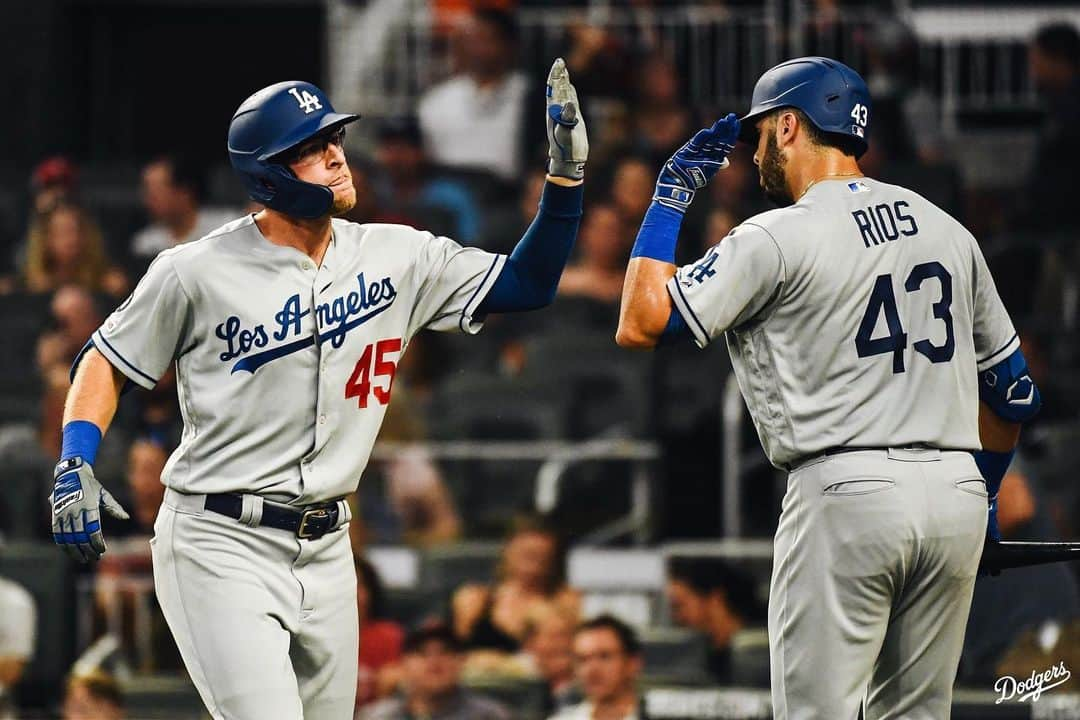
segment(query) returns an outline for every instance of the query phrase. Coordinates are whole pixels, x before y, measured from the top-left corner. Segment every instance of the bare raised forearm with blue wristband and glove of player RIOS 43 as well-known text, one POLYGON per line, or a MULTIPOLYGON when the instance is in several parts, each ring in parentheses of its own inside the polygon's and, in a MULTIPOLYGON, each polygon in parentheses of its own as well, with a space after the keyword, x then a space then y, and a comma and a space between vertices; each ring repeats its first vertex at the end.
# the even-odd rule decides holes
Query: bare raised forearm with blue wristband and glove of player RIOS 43
POLYGON ((694 193, 728 166, 739 137, 739 120, 729 113, 699 131, 664 163, 652 204, 645 214, 623 281, 616 342, 623 348, 652 348, 686 332, 673 312, 667 283, 675 275, 675 244, 694 193))

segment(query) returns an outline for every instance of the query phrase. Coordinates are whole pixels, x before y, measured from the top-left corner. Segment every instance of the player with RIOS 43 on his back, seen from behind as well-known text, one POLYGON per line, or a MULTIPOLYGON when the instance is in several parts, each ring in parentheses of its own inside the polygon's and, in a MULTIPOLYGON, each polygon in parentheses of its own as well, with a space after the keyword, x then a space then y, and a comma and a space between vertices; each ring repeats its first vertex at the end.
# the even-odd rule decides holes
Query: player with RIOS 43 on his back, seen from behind
POLYGON ((788 471, 769 598, 781 720, 949 716, 993 501, 1039 405, 971 233, 860 171, 870 112, 835 60, 766 72, 741 122, 661 171, 623 291, 622 345, 725 336, 788 471), (676 268, 683 213, 740 137, 783 207, 676 268))

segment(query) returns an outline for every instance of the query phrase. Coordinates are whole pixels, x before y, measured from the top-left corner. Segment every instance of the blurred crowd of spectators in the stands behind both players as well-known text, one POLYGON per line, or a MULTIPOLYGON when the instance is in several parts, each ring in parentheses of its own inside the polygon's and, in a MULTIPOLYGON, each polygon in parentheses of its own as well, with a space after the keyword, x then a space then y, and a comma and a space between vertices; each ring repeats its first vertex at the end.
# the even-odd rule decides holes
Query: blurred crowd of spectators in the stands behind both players
MULTIPOLYGON (((819 17, 839 23, 828 13, 819 17)), ((814 37, 827 35, 820 30, 814 37)), ((1025 430, 1002 488, 1002 534, 1075 538, 1080 493, 1063 449, 1080 430, 1074 402, 1080 388, 1070 373, 1080 297, 1070 182, 1080 161, 1080 35, 1053 24, 1031 38, 1026 71, 1043 106, 1032 169, 1017 171, 1005 192, 986 192, 966 186, 933 89, 920 81, 914 32, 891 19, 864 30, 859 69, 875 104, 862 166, 922 192, 975 232, 1044 389, 1045 409, 1025 430)), ((357 190, 349 219, 407 223, 508 253, 531 221, 543 185, 541 64, 550 58, 518 57, 515 16, 498 6, 467 13, 446 33, 455 71, 426 89, 411 114, 362 121, 365 137, 347 139, 357 190)), ((729 373, 724 349, 627 356, 612 337, 623 270, 661 163, 698 127, 742 108, 690 107, 680 58, 647 28, 617 35, 573 25, 563 55, 590 123, 591 153, 584 217, 556 302, 527 317, 492 317, 477 338, 418 336, 400 366, 380 439, 651 440, 660 448, 651 540, 714 538, 718 408, 729 373)), ((1011 150, 997 149, 993 162, 1011 165, 1011 150)), ((0 351, 4 541, 49 538, 45 498, 69 369, 91 332, 162 249, 257 209, 228 190, 212 190, 208 169, 161 148, 127 188, 124 202, 145 220, 137 228, 131 213, 99 213, 87 201, 100 193, 86 192, 78 159, 43 158, 27 179, 18 230, 0 237, 8 308, 0 322, 9 338, 0 351)), ((751 152, 740 147, 688 213, 679 261, 699 257, 762 209, 751 152)), ((132 517, 105 518, 109 552, 97 567, 80 569, 78 580, 95 581, 83 609, 90 637, 119 633, 127 673, 181 667, 149 590, 147 545, 163 494, 159 478, 181 424, 170 372, 154 390, 125 395, 95 465, 132 517)), ((755 440, 743 440, 753 454, 755 440)), ((642 628, 618 613, 586 612, 565 575, 567 544, 626 514, 633 470, 625 461, 562 467, 559 487, 572 492, 540 503, 534 487, 540 464, 443 462, 410 449, 374 461, 360 478, 350 528, 363 634, 357 718, 513 717, 476 690, 485 677, 540 683, 544 711, 566 720, 594 717, 596 708, 604 717, 640 717, 642 628), (539 505, 543 516, 510 522, 539 505), (363 559, 373 545, 427 552, 477 538, 507 538, 491 582, 441 588, 437 602, 410 617, 392 607, 363 559)), ((758 460, 745 479, 744 528, 769 536, 780 500, 775 473, 758 460)), ((666 572, 667 615, 703 639, 700 669, 708 681, 767 684, 767 664, 762 677, 759 664, 732 661, 733 649, 745 644, 738 639, 764 627, 760 583, 739 563, 713 558, 673 560, 666 572)), ((12 711, 13 689, 33 661, 36 606, 31 593, 0 578, 0 718, 4 708, 12 711)), ((1008 668, 1030 669, 1039 653, 1080 647, 1077 617, 1077 578, 1064 566, 981 580, 961 679, 993 680, 1008 668)), ((64 718, 124 717, 119 684, 107 673, 72 674, 66 688, 64 718)))

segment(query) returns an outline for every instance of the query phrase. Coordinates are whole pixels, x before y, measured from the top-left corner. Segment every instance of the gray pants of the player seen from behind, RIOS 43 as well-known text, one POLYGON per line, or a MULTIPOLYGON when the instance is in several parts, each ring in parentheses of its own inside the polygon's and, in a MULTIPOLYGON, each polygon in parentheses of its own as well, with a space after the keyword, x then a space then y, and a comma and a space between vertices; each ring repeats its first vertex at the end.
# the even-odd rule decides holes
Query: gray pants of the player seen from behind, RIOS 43
POLYGON ((773 549, 777 720, 944 720, 986 531, 968 452, 865 450, 787 478, 773 549))

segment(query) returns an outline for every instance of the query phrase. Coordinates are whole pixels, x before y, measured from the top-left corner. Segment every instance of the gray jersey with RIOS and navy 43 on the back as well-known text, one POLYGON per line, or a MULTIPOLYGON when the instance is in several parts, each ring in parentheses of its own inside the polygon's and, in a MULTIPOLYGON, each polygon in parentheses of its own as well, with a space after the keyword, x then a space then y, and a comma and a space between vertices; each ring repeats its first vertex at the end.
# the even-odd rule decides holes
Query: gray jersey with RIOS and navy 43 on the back
POLYGON ((746 220, 667 290, 699 345, 726 334, 777 466, 839 446, 978 449, 976 367, 1020 347, 971 233, 870 178, 746 220))

